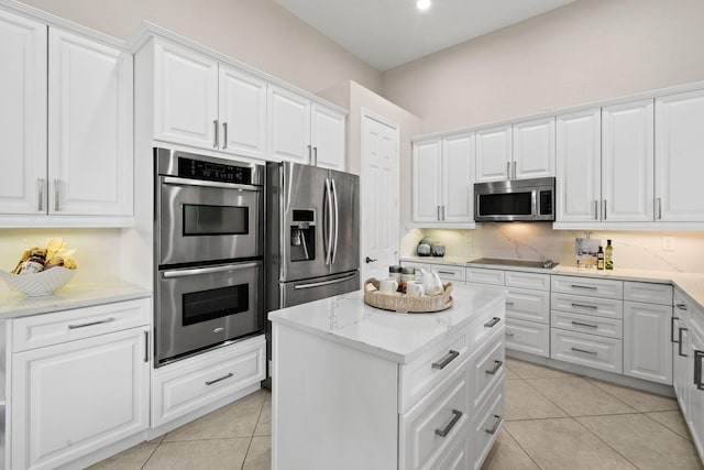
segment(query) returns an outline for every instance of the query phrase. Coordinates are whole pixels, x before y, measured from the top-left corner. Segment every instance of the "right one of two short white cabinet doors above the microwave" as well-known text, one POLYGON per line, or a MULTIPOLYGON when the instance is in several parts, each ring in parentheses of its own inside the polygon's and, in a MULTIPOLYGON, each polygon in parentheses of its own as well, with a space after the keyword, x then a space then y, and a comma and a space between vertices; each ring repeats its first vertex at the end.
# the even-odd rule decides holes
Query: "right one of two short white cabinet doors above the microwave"
POLYGON ((554 176, 554 118, 514 124, 512 179, 554 176))

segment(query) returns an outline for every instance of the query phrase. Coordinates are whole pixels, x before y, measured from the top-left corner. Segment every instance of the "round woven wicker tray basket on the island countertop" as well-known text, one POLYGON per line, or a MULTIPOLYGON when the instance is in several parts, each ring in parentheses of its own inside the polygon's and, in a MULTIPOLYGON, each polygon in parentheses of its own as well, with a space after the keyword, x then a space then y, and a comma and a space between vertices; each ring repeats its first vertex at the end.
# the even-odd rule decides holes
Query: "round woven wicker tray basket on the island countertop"
POLYGON ((444 286, 440 295, 422 295, 411 297, 406 294, 383 294, 378 292, 378 281, 371 277, 364 281, 364 303, 384 310, 403 311, 409 314, 427 314, 440 311, 452 307, 452 283, 444 286), (372 284, 376 291, 369 291, 367 284, 372 284))

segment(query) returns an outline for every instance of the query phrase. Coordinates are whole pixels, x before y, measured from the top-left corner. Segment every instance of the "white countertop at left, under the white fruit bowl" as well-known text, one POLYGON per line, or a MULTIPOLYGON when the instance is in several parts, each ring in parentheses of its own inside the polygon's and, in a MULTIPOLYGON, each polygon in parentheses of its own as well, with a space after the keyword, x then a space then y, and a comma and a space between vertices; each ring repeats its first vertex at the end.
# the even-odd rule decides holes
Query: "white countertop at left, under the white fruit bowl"
POLYGON ((48 314, 72 308, 151 297, 152 291, 127 283, 69 284, 53 295, 28 297, 16 292, 0 293, 0 320, 48 314))

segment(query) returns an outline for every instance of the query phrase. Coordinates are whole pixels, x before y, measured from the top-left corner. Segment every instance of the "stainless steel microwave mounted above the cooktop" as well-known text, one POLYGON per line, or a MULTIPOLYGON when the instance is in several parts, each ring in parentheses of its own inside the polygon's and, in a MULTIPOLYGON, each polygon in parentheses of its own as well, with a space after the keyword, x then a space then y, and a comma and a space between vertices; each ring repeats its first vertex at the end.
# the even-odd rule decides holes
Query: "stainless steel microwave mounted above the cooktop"
POLYGON ((554 220, 554 178, 510 179, 474 185, 474 220, 554 220))

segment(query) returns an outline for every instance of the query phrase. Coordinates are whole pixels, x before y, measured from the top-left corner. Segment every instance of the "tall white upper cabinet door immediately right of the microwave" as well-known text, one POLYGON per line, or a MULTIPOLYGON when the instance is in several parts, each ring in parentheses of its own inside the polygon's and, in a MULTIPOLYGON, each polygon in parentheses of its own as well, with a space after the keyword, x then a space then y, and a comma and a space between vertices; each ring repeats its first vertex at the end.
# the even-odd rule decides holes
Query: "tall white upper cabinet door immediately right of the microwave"
POLYGON ((601 110, 557 118, 556 220, 601 218, 601 110))

